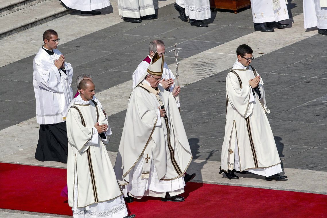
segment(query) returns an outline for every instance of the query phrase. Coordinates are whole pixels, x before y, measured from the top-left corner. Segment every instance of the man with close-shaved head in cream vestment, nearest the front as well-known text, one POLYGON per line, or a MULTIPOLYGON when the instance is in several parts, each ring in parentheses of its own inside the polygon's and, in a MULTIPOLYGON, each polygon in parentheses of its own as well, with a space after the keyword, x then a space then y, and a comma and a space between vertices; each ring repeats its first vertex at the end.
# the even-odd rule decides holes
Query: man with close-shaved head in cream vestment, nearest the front
POLYGON ((80 94, 67 114, 68 204, 74 218, 133 218, 127 215, 122 191, 104 144, 111 128, 95 101, 95 85, 79 83, 80 94))

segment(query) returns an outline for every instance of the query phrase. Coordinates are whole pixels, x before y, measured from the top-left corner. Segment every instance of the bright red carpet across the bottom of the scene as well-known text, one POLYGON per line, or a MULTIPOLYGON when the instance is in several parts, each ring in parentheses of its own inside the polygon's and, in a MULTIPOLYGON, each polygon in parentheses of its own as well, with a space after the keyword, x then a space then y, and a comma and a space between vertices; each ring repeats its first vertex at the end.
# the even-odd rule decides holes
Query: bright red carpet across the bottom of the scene
MULTIPOLYGON (((0 163, 0 184, 0 208, 72 215, 67 199, 60 196, 65 169, 0 163)), ((128 208, 137 218, 327 216, 323 194, 189 182, 183 196, 184 202, 144 197, 128 208)))

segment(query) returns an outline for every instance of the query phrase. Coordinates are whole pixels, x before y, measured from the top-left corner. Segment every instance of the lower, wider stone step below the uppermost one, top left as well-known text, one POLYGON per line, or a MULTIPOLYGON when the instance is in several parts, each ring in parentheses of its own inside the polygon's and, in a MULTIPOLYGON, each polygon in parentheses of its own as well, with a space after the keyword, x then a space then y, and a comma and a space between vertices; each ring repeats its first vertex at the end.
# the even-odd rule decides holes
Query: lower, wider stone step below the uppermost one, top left
POLYGON ((70 12, 60 4, 59 0, 45 0, 31 7, 6 14, 0 17, 0 39, 70 12))

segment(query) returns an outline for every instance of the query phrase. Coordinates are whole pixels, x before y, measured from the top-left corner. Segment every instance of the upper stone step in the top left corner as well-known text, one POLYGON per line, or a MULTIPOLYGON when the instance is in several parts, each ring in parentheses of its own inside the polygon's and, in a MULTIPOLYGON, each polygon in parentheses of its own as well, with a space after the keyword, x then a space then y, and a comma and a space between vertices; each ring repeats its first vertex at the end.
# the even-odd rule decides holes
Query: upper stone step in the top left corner
POLYGON ((46 0, 6 0, 0 2, 0 17, 46 0))

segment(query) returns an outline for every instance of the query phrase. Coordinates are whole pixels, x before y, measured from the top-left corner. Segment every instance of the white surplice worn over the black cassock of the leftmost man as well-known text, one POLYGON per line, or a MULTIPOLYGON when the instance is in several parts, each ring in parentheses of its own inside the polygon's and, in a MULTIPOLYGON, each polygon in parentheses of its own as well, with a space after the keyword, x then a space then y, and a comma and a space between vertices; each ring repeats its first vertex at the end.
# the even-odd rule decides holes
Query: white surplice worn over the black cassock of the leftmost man
POLYGON ((56 124, 65 121, 67 108, 73 97, 73 68, 65 62, 66 74, 55 66, 61 52, 49 55, 41 47, 33 59, 33 87, 36 100, 36 121, 39 124, 56 124), (61 76, 59 74, 61 73, 61 76))

